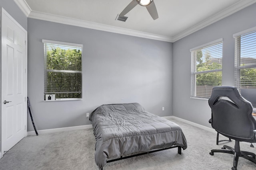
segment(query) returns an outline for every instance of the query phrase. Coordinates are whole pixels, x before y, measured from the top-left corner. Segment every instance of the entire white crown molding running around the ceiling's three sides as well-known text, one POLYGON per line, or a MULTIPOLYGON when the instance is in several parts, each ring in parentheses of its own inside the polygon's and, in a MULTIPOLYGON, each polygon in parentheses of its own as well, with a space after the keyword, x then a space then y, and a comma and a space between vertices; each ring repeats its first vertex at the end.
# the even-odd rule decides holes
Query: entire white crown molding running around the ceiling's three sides
POLYGON ((78 27, 85 27, 90 29, 96 29, 100 31, 108 31, 112 33, 120 33, 124 35, 131 35, 135 37, 142 37, 147 39, 155 39, 159 41, 166 41, 166 42, 175 42, 179 39, 182 39, 204 27, 207 27, 208 25, 211 25, 212 23, 219 21, 227 16, 230 16, 231 14, 234 14, 235 12, 238 12, 239 10, 242 10, 243 8, 246 8, 247 6, 250 6, 256 2, 256 0, 240 0, 236 4, 222 10, 221 12, 211 16, 210 18, 207 18, 206 20, 194 25, 193 27, 190 27, 189 29, 183 31, 182 33, 179 33, 178 35, 175 35, 174 37, 168 37, 163 35, 156 35, 152 33, 146 33, 142 31, 136 31, 132 29, 126 29, 121 27, 114 27, 110 25, 105 25, 101 23, 94 23, 90 21, 84 21, 84 20, 78 20, 74 18, 68 18, 63 16, 57 16, 53 14, 46 14, 43 12, 36 12, 32 11, 31 8, 26 3, 26 0, 14 0, 14 2, 18 5, 18 7, 22 10, 22 12, 28 17, 28 18, 34 18, 38 20, 45 20, 45 21, 52 21, 56 23, 63 23, 68 25, 74 25, 78 27))

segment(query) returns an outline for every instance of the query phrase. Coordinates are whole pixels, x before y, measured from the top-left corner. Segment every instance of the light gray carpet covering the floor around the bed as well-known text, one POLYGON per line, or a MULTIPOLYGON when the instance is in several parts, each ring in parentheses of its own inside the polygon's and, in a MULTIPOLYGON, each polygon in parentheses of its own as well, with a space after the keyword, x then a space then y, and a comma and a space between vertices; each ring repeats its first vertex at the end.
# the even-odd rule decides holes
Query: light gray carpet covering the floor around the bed
MULTIPOLYGON (((211 149, 220 149, 234 141, 216 145, 216 134, 170 119, 178 123, 188 141, 188 148, 163 150, 143 156, 111 162, 104 170, 229 170, 233 155, 209 154, 211 149)), ((221 139, 222 137, 220 137, 221 139)), ((92 129, 28 136, 22 139, 0 159, 0 170, 98 170, 94 162, 95 139, 92 129)), ((256 153, 244 143, 241 150, 256 153)), ((256 147, 256 146, 255 146, 256 147)), ((256 170, 256 164, 239 158, 239 170, 256 170)))

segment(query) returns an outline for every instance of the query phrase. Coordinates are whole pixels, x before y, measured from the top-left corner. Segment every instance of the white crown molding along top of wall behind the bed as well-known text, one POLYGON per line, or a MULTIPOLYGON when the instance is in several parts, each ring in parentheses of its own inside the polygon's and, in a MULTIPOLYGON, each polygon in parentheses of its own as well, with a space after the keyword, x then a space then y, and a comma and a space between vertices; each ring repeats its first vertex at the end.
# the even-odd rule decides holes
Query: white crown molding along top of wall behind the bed
POLYGON ((78 26, 78 27, 96 29, 96 30, 100 30, 100 31, 108 31, 108 32, 112 32, 112 33, 120 33, 120 34, 124 34, 124 35, 135 36, 135 37, 142 37, 142 38, 147 38, 147 39, 155 39, 155 40, 159 40, 159 41, 172 42, 171 37, 156 35, 156 34, 152 34, 152 33, 146 33, 146 32, 142 32, 142 31, 136 31, 136 30, 132 30, 132 29, 125 29, 125 28, 121 28, 121 27, 114 27, 114 26, 105 25, 102 23, 95 23, 95 22, 78 20, 78 19, 64 17, 64 16, 47 14, 47 13, 43 13, 43 12, 31 11, 28 18, 52 21, 52 22, 56 22, 56 23, 63 23, 63 24, 74 25, 74 26, 78 26))

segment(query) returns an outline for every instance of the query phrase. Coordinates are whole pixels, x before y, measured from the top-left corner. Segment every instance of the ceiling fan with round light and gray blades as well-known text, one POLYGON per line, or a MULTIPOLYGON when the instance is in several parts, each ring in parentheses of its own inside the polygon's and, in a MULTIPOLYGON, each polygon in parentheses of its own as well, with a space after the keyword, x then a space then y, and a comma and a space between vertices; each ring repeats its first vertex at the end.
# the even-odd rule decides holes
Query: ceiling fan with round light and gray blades
POLYGON ((136 5, 146 6, 150 16, 153 18, 153 20, 158 19, 158 13, 156 10, 156 5, 153 0, 132 0, 126 8, 119 14, 120 17, 123 17, 125 14, 127 14, 130 10, 132 10, 136 5))

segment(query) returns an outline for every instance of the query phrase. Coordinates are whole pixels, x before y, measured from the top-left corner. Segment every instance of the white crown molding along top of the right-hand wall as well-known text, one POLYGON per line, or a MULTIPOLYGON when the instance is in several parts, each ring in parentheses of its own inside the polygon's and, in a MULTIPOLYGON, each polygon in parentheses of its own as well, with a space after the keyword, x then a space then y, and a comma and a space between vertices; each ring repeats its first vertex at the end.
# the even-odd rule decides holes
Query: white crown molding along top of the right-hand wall
POLYGON ((250 6, 254 4, 256 0, 240 0, 236 4, 222 10, 221 12, 218 12, 217 14, 213 15, 210 18, 207 18, 206 20, 194 25, 193 27, 187 29, 186 31, 183 31, 182 33, 179 33, 178 35, 175 35, 172 37, 173 42, 178 41, 179 39, 182 39, 204 27, 207 27, 208 25, 211 25, 214 22, 217 22, 219 20, 222 20, 223 18, 230 16, 231 14, 234 14, 235 12, 238 12, 239 10, 242 10, 243 8, 246 8, 247 6, 250 6))

